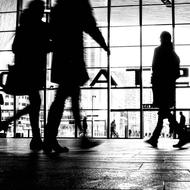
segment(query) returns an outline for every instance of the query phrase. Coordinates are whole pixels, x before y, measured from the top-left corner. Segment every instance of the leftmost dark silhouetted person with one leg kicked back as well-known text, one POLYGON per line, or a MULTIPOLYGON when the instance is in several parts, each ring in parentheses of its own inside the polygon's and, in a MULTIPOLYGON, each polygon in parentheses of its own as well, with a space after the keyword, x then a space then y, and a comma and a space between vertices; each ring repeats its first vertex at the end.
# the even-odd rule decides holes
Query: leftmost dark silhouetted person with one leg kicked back
POLYGON ((44 1, 32 0, 20 17, 12 45, 15 54, 15 67, 21 71, 23 81, 27 84, 26 94, 30 104, 19 110, 16 115, 1 122, 6 129, 8 124, 25 114, 29 114, 32 128, 31 150, 41 150, 42 140, 39 129, 39 112, 41 105, 40 90, 45 84, 46 56, 50 51, 49 25, 42 21, 44 1))

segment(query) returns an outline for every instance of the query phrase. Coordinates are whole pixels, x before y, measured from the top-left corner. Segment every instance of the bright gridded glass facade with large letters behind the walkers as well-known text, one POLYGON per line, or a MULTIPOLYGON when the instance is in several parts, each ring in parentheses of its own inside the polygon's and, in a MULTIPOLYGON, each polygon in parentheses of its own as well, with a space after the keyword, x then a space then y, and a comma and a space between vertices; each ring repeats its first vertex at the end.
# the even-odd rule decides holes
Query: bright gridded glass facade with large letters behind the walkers
MULTIPOLYGON (((13 64, 11 44, 17 19, 29 0, 1 0, 0 2, 0 71, 13 64)), ((48 22, 49 10, 55 0, 45 0, 48 22)), ((152 133, 157 122, 157 109, 152 108, 151 65, 153 51, 160 44, 164 30, 172 34, 175 50, 181 60, 181 77, 176 83, 176 107, 190 120, 189 52, 190 2, 188 0, 90 0, 97 24, 111 55, 107 54, 87 34, 84 34, 85 61, 90 80, 81 87, 81 119, 87 116, 88 135, 110 138, 110 124, 116 121, 119 138, 144 138, 152 133)), ((51 53, 48 55, 46 89, 41 92, 43 104, 40 127, 43 136, 49 106, 56 84, 50 82, 51 53)), ((12 97, 2 90, 5 103, 1 105, 2 120, 28 104, 28 98, 12 97)), ((59 127, 59 137, 76 137, 70 99, 66 101, 59 127)), ((164 122, 163 136, 169 136, 168 122, 164 122)), ((7 136, 31 137, 28 115, 13 123, 7 136)), ((117 137, 118 138, 118 137, 117 137)))

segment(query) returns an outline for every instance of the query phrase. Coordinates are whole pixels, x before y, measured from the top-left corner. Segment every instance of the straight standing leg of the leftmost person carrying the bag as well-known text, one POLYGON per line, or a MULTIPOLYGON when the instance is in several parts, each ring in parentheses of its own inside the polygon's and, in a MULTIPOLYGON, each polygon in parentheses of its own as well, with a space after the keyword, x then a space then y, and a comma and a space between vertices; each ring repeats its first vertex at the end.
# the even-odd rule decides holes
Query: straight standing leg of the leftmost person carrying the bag
POLYGON ((31 150, 41 150, 42 149, 42 140, 40 135, 39 127, 39 114, 41 106, 41 97, 39 91, 34 91, 29 95, 30 101, 30 124, 32 128, 32 140, 30 142, 31 150))

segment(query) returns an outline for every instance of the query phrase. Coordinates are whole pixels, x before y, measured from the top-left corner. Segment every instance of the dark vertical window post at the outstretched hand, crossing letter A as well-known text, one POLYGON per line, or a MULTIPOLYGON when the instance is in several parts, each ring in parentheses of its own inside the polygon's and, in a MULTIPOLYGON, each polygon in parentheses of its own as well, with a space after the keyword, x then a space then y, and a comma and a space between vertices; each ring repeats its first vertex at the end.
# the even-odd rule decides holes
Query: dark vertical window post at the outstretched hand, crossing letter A
MULTIPOLYGON (((108 0, 107 2, 107 22, 108 22, 108 30, 107 30, 107 45, 110 48, 110 18, 111 18, 111 0, 108 0)), ((110 98, 111 98, 111 74, 110 74, 110 55, 107 54, 107 69, 108 69, 108 91, 107 91, 107 96, 108 96, 108 109, 107 109, 107 138, 109 139, 110 137, 110 98)))

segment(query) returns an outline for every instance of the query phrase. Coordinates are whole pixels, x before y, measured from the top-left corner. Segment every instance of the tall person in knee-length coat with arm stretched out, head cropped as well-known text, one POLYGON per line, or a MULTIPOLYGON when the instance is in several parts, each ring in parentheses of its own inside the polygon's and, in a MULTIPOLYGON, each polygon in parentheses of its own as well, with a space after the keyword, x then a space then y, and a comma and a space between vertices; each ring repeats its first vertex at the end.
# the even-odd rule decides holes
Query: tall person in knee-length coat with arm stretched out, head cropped
MULTIPOLYGON (((44 151, 67 152, 68 148, 61 147, 56 137, 68 97, 71 97, 75 126, 83 132, 79 108, 80 86, 89 79, 84 62, 83 32, 88 33, 108 53, 109 49, 96 25, 88 0, 57 0, 51 11, 50 26, 53 42, 51 81, 59 86, 48 113, 44 151)), ((96 144, 87 138, 84 142, 83 148, 96 144)))

